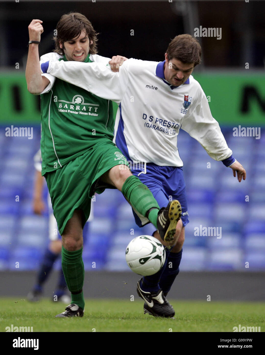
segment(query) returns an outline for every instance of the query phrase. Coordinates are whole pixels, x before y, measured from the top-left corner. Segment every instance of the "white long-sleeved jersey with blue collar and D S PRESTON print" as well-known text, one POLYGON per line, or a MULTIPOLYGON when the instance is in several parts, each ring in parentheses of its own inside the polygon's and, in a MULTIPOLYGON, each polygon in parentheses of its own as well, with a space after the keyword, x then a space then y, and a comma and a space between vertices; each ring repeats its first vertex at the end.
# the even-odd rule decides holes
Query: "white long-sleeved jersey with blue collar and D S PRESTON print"
POLYGON ((50 62, 48 73, 120 104, 114 143, 127 158, 183 166, 177 149, 182 128, 215 160, 232 155, 208 101, 192 76, 179 87, 165 81, 164 62, 126 60, 120 71, 76 61, 50 62))

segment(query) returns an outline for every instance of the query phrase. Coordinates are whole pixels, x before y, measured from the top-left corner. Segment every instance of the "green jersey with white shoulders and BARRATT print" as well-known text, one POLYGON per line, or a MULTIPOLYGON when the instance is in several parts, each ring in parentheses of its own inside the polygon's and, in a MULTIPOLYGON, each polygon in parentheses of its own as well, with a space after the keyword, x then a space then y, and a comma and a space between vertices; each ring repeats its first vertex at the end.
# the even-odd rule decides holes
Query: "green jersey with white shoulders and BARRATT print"
MULTIPOLYGON (((48 53, 40 64, 67 61, 65 56, 48 53)), ((84 62, 103 62, 109 58, 89 54, 84 62)), ((57 170, 98 143, 112 142, 114 115, 112 102, 78 87, 43 74, 50 84, 41 97, 42 175, 57 170)), ((82 80, 82 78, 80 78, 82 80)))

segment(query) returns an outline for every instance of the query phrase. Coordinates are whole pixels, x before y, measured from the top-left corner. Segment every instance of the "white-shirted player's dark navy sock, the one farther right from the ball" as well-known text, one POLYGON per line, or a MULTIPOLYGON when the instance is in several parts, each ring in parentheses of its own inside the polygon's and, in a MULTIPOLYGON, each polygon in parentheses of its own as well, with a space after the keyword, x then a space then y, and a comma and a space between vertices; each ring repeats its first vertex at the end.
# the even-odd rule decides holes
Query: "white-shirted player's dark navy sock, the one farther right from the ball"
POLYGON ((162 273, 159 285, 163 292, 168 293, 176 276, 180 272, 180 261, 182 257, 182 249, 178 253, 169 253, 167 264, 162 273))

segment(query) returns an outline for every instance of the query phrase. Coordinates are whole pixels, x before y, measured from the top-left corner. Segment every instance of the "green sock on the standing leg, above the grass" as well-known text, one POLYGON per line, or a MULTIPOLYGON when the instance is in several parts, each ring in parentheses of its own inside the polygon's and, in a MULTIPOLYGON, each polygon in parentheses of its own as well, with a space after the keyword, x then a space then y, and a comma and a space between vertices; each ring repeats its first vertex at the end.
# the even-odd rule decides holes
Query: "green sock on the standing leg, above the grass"
POLYGON ((84 263, 82 259, 83 248, 76 251, 68 251, 62 246, 62 271, 65 275, 66 285, 71 292, 72 302, 84 309, 83 295, 84 263))

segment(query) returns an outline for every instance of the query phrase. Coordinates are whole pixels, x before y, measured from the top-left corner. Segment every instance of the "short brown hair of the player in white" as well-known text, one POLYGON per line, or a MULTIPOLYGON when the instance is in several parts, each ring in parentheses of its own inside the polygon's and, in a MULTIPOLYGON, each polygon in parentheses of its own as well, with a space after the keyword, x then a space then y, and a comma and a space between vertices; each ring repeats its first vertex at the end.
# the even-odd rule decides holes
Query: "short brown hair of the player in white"
POLYGON ((198 40, 190 34, 180 34, 169 44, 166 50, 168 60, 178 59, 183 63, 200 64, 201 46, 198 40))

